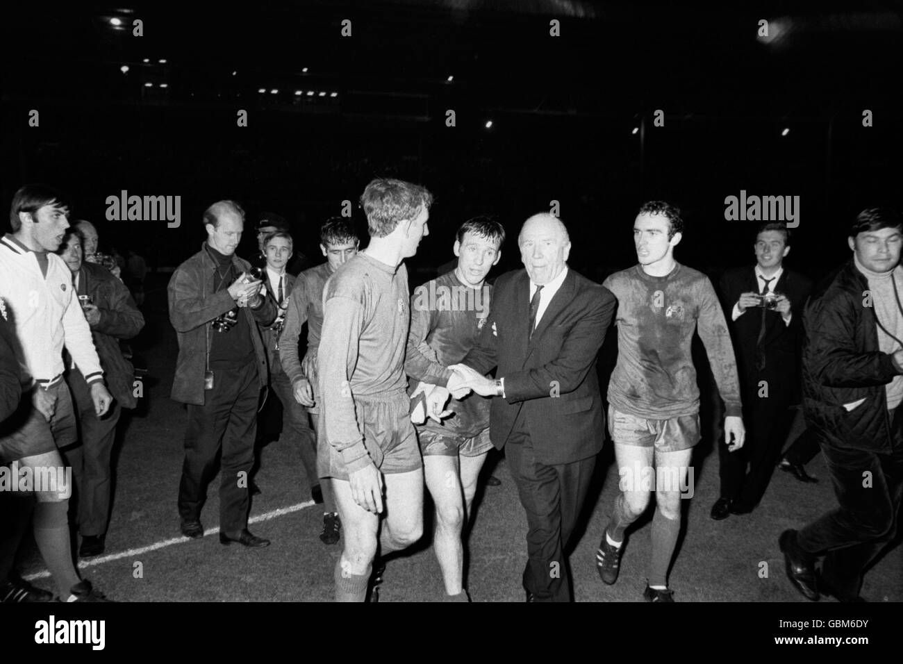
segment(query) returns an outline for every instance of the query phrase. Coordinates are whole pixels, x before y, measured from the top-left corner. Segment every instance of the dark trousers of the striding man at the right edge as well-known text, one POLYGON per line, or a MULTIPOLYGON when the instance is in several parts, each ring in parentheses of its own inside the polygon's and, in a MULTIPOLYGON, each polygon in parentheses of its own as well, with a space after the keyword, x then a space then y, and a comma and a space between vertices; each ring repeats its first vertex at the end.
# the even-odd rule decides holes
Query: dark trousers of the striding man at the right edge
MULTIPOLYGON (((896 410, 899 418, 903 408, 896 410)), ((894 426, 899 425, 897 419, 894 426)), ((801 529, 796 541, 810 554, 826 552, 824 577, 839 593, 856 596, 865 568, 897 533, 903 445, 890 454, 876 454, 837 447, 824 437, 821 444, 839 506, 801 529)))

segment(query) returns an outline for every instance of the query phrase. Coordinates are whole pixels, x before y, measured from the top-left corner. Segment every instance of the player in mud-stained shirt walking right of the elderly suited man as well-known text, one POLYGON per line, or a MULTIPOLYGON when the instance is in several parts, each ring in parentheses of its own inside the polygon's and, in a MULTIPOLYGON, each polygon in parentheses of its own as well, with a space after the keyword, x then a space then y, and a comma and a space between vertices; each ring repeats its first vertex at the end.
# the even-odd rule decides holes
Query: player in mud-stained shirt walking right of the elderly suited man
POLYGON ((703 341, 724 401, 724 438, 731 452, 742 446, 745 435, 731 335, 708 277, 675 260, 675 247, 683 237, 680 210, 664 201, 644 203, 633 223, 638 265, 604 282, 618 298, 618 362, 609 383, 609 433, 621 491, 596 566, 605 584, 618 580, 626 530, 646 511, 655 489, 652 555, 643 592, 647 602, 674 602, 667 572, 680 533, 682 488, 688 487, 693 447, 701 437, 691 354, 694 332, 703 341), (650 484, 647 477, 655 481, 650 484))

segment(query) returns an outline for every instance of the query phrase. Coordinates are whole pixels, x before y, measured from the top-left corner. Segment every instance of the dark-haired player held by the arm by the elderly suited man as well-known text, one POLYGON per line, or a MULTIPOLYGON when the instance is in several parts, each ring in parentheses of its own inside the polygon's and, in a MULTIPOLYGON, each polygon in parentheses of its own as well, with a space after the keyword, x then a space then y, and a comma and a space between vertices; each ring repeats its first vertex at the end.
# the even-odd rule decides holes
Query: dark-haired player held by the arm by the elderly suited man
MULTIPOLYGON (((492 286, 486 276, 501 258, 505 229, 496 220, 476 217, 458 229, 454 243, 457 266, 418 286, 411 295, 411 331, 407 337, 405 372, 418 381, 445 385, 452 370, 470 352, 489 317, 492 286)), ((417 427, 424 455, 426 488, 435 507, 433 547, 442 569, 445 600, 466 602, 463 586, 464 547, 461 530, 470 515, 479 471, 492 448, 489 399, 473 395, 455 400, 454 416, 442 424, 427 420, 417 427)))

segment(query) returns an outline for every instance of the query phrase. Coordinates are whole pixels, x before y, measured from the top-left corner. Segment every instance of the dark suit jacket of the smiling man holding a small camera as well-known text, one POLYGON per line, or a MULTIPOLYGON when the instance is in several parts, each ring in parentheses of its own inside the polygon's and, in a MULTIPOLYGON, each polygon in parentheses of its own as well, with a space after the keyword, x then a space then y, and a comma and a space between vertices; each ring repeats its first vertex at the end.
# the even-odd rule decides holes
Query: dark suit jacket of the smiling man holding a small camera
MULTIPOLYGON (((759 279, 754 267, 735 267, 721 276, 721 304, 724 317, 731 330, 737 365, 740 369, 740 382, 745 389, 750 383, 767 380, 769 393, 775 387, 787 388, 787 392, 798 398, 799 394, 799 358, 803 341, 803 306, 812 290, 812 282, 803 275, 784 268, 777 284, 772 288, 779 294, 787 295, 790 300, 790 325, 785 325, 781 314, 772 310, 765 312, 765 369, 756 369, 756 346, 759 340, 759 329, 762 323, 761 308, 749 308, 740 314, 736 321, 731 321, 734 304, 740 300, 742 293, 759 293, 759 279)), ((749 399, 744 395, 744 403, 749 399)))

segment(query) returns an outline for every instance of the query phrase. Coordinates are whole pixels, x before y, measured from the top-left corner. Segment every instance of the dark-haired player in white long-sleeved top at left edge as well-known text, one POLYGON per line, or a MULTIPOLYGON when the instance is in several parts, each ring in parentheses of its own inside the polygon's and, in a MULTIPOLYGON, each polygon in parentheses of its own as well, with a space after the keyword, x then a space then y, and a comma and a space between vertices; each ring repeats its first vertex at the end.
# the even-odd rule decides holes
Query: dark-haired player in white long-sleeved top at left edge
MULTIPOLYGON (((79 301, 72 276, 60 248, 69 228, 69 204, 61 192, 43 184, 26 184, 13 196, 12 233, 0 238, 0 298, 5 317, 15 325, 16 341, 29 376, 28 396, 0 425, 0 463, 14 462, 21 469, 64 475, 58 448, 77 440, 69 388, 63 380, 63 346, 87 383, 96 416, 103 416, 113 397, 103 382, 98 353, 79 301)), ((104 602, 87 579, 79 580, 72 565, 69 531, 71 486, 35 487, 33 496, 16 497, 12 519, 0 540, 0 580, 14 565, 28 517, 33 511, 34 541, 51 572, 58 598, 65 602, 104 602), (36 503, 34 501, 36 499, 36 503)), ((15 583, 15 582, 13 582, 15 583)), ((21 601, 28 588, 3 588, 4 598, 21 601)))

